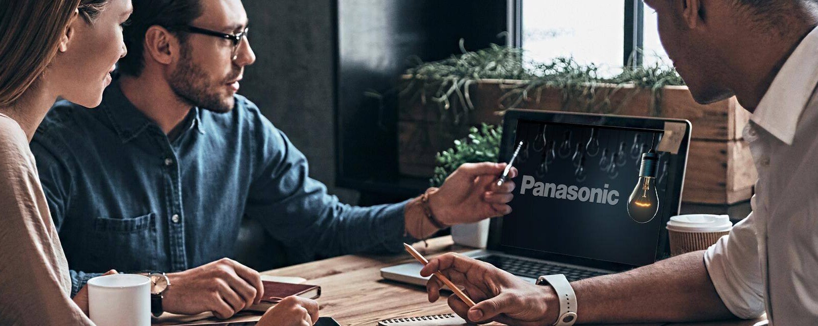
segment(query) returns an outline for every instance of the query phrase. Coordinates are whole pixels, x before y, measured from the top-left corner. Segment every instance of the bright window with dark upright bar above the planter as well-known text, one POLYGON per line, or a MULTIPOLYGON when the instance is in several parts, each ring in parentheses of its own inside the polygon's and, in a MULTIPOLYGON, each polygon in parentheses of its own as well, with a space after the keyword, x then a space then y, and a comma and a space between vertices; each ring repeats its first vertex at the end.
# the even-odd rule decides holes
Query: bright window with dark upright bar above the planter
POLYGON ((520 41, 526 50, 526 60, 542 62, 557 56, 573 56, 581 64, 600 65, 600 73, 612 76, 627 63, 632 49, 641 46, 644 50, 637 63, 671 63, 659 42, 656 13, 646 10, 641 0, 517 3, 522 6, 520 41))

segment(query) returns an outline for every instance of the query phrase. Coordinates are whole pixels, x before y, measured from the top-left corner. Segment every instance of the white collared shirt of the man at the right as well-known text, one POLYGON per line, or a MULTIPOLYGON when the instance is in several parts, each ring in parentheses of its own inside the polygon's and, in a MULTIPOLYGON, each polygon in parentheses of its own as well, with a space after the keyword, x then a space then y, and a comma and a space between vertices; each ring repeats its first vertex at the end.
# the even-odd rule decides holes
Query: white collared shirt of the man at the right
POLYGON ((818 325, 818 29, 789 56, 744 128, 753 212, 704 254, 734 315, 818 325))

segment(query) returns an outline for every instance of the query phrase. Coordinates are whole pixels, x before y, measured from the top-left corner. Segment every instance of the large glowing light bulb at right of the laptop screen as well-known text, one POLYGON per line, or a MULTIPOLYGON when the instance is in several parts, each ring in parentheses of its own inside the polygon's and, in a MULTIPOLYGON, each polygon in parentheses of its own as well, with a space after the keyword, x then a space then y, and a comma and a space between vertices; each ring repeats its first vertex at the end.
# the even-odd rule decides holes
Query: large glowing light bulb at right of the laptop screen
POLYGON ((639 170, 639 181, 627 199, 627 214, 637 223, 647 223, 656 217, 659 198, 656 193, 656 172, 658 155, 654 150, 642 154, 642 166, 639 170))

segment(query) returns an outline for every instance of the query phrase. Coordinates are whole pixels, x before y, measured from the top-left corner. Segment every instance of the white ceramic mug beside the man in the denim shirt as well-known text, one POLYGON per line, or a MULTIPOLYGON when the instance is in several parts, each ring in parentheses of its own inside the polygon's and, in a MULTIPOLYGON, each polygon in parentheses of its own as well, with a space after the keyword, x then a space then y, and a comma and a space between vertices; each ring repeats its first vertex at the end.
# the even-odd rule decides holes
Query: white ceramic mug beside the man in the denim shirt
POLYGON ((89 279, 88 314, 97 326, 151 326, 151 279, 135 274, 89 279))

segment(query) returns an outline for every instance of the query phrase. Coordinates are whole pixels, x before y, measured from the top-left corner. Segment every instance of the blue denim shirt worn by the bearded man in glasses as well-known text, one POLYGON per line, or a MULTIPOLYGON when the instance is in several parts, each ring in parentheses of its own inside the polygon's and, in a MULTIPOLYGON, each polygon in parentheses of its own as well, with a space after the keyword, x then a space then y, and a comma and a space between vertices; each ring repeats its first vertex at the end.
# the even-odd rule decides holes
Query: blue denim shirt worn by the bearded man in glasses
POLYGON ((169 141, 115 82, 96 109, 62 100, 38 127, 31 150, 72 296, 110 269, 170 272, 233 257, 244 215, 281 243, 288 263, 402 249, 405 202, 339 203, 243 96, 227 114, 193 110, 169 141))

